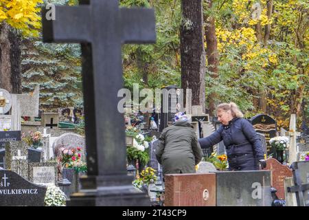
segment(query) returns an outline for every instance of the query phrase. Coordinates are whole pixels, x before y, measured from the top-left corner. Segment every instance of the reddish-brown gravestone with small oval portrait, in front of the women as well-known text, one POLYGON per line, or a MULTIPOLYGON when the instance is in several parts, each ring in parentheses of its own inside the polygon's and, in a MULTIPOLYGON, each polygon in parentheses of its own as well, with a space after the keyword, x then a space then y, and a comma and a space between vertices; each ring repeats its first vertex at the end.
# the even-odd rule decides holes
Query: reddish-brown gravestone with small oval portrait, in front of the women
POLYGON ((216 174, 165 175, 164 206, 216 206, 216 174))

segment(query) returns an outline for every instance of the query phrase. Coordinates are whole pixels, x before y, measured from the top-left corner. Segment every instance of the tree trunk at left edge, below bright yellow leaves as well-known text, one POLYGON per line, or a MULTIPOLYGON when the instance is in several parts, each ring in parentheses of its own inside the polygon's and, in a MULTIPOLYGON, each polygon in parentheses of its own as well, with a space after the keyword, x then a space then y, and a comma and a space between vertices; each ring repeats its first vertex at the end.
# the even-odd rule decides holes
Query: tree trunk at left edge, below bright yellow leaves
POLYGON ((0 87, 21 94, 21 36, 6 23, 0 26, 0 87))

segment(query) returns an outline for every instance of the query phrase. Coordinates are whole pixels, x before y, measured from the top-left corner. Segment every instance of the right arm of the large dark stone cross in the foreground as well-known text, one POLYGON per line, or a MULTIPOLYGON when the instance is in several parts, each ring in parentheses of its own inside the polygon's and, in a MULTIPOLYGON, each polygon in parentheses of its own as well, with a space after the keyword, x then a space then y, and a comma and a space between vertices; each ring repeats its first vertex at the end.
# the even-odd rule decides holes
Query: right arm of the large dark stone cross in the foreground
POLYGON ((122 43, 155 43, 155 11, 150 8, 120 8, 122 43))

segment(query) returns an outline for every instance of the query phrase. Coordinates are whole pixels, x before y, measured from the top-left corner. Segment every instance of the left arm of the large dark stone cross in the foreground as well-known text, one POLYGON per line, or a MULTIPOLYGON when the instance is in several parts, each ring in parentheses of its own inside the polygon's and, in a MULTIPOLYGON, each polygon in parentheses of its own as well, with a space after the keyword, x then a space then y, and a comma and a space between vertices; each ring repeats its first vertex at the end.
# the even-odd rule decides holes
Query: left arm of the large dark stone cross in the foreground
POLYGON ((42 9, 43 42, 80 43, 91 41, 89 5, 56 6, 55 19, 47 19, 49 10, 42 9))

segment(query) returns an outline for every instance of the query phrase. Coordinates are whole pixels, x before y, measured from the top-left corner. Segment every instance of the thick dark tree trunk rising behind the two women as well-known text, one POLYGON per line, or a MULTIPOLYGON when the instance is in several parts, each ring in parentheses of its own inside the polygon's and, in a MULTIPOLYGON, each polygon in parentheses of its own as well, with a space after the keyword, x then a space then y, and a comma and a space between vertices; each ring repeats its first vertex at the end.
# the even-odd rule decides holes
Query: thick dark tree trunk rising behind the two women
POLYGON ((192 105, 202 105, 205 109, 206 58, 202 1, 182 0, 181 10, 181 87, 192 89, 192 105))

